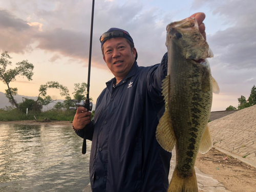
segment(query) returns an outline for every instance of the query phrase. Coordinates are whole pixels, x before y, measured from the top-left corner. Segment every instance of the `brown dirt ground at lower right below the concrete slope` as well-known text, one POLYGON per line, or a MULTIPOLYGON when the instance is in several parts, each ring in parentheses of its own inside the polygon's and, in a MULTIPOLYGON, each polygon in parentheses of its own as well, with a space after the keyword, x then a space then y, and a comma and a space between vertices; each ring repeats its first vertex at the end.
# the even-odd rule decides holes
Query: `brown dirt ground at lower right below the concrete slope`
POLYGON ((256 168, 236 158, 211 148, 206 154, 198 154, 196 166, 211 175, 233 192, 256 191, 256 168))

